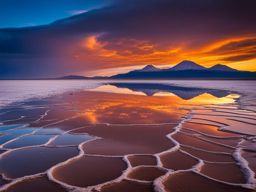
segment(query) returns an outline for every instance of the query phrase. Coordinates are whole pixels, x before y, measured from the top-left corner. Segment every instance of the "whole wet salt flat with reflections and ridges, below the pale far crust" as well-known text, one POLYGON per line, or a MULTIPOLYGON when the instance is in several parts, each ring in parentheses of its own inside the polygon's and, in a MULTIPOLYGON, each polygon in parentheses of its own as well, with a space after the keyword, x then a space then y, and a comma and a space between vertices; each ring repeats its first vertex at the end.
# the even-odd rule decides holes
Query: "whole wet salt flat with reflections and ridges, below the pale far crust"
POLYGON ((156 87, 1 108, 0 191, 255 190, 253 97, 250 108, 230 91, 156 87))

